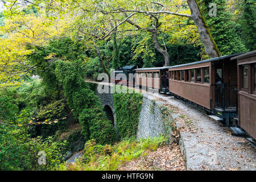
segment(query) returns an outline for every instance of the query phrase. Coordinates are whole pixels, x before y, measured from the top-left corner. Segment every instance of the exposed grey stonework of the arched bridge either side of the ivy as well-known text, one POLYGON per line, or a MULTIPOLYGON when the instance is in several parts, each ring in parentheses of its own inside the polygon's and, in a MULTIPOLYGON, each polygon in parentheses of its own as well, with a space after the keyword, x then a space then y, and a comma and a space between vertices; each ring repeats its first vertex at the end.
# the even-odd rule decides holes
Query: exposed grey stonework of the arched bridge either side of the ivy
MULTIPOLYGON (((117 130, 117 115, 114 109, 113 89, 114 85, 97 82, 96 95, 100 98, 104 111, 117 130), (100 90, 100 91, 99 91, 100 90), (102 92, 104 90, 104 92, 102 92), (112 92, 111 92, 112 91, 112 92)), ((159 137, 166 133, 163 118, 161 117, 160 105, 162 101, 155 101, 154 97, 143 94, 142 109, 139 115, 137 138, 159 137)))

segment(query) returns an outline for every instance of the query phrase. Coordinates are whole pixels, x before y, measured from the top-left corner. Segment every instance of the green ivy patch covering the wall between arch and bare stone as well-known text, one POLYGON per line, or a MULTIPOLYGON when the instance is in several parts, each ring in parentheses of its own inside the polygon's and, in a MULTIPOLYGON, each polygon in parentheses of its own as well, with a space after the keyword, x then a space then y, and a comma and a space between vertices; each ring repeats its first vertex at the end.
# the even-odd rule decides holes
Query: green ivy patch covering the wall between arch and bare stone
POLYGON ((115 93, 113 97, 119 136, 121 138, 136 137, 142 108, 142 94, 115 93))

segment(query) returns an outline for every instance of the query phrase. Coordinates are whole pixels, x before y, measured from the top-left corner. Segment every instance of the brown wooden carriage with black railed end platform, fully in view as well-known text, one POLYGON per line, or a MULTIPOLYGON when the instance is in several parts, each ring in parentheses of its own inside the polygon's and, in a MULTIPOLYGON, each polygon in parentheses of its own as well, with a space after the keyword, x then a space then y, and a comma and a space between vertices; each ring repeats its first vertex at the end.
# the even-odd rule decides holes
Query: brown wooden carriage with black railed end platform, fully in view
POLYGON ((229 126, 237 115, 237 64, 241 53, 168 67, 170 92, 203 106, 229 126))

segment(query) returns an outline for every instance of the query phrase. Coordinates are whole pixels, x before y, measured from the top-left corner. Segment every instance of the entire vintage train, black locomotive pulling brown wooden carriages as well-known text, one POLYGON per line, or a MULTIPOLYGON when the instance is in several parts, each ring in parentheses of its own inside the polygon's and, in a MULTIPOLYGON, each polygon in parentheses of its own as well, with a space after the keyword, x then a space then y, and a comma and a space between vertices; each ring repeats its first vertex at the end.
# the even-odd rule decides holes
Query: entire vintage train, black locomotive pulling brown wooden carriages
POLYGON ((210 118, 230 127, 235 134, 256 138, 256 51, 170 67, 118 71, 133 73, 131 81, 115 80, 172 95, 207 111, 210 118))

